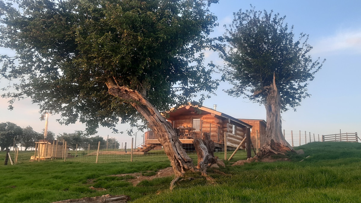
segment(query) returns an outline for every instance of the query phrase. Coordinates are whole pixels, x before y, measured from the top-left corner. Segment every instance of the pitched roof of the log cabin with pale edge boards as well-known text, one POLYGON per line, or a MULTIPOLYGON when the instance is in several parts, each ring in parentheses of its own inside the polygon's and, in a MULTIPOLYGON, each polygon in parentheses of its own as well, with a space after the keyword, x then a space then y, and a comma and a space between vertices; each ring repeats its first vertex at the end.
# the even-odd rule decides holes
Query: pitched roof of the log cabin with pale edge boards
MULTIPOLYGON (((182 114, 187 114, 187 113, 195 113, 197 112, 197 109, 201 110, 201 111, 205 111, 205 112, 208 112, 208 113, 211 113, 211 114, 214 114, 214 115, 217 115, 219 117, 222 117, 222 118, 228 118, 229 120, 231 120, 232 122, 235 122, 237 124, 240 124, 240 125, 243 125, 247 128, 252 128, 252 125, 249 125, 237 118, 234 118, 232 116, 229 116, 225 113, 222 113, 222 112, 219 112, 219 111, 216 111, 212 108, 208 108, 208 107, 204 107, 204 106, 198 106, 198 105, 192 105, 191 103, 188 103, 188 105, 182 105, 178 108, 171 108, 168 112, 169 114, 169 117, 176 117, 178 115, 182 115, 182 114), (187 109, 188 108, 188 109, 187 109)), ((202 115, 202 113, 200 113, 200 115, 202 115)))

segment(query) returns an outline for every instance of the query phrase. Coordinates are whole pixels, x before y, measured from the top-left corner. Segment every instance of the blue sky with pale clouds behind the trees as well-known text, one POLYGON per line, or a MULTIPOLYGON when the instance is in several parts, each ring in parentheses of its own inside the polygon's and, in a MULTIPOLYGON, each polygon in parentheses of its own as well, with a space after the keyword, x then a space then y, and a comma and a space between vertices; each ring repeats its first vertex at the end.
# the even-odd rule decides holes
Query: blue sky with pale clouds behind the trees
MULTIPOLYGON (((293 33, 298 38, 300 33, 309 35, 308 43, 313 46, 310 55, 313 59, 326 59, 322 69, 316 73, 315 79, 309 82, 308 92, 312 95, 304 99, 296 111, 292 109, 282 113, 282 127, 286 132, 307 131, 319 134, 334 134, 340 129, 342 133, 361 133, 361 1, 359 0, 219 0, 210 7, 218 17, 219 26, 212 36, 224 33, 223 25, 229 25, 233 12, 239 9, 273 10, 280 16, 286 16, 285 22, 294 25, 293 33)), ((11 53, 0 48, 0 54, 11 53)), ((216 65, 223 65, 217 53, 206 51, 206 60, 216 65)), ((219 78, 217 73, 214 78, 219 78)), ((6 81, 0 81, 0 87, 6 81)), ((265 107, 251 103, 247 99, 233 98, 222 90, 230 88, 226 82, 221 83, 217 95, 206 99, 204 106, 236 118, 266 120, 265 107)), ((13 122, 23 128, 30 125, 35 131, 41 132, 45 122, 41 121, 39 109, 30 99, 16 101, 14 110, 8 110, 8 99, 0 98, 0 122, 13 122)), ((56 135, 84 130, 85 125, 77 122, 68 126, 56 122, 58 115, 49 116, 48 129, 56 135)), ((129 129, 127 124, 118 124, 119 131, 129 129)), ((126 134, 113 134, 106 128, 98 129, 98 134, 128 139, 126 134)))

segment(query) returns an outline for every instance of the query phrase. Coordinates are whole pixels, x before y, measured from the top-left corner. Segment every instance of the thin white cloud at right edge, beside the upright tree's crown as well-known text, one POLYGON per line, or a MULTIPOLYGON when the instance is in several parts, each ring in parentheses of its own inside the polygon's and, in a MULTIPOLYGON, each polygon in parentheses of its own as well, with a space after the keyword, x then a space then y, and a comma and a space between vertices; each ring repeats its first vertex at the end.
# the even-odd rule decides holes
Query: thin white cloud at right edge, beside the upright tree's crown
POLYGON ((361 30, 348 30, 338 32, 314 43, 312 53, 335 52, 361 53, 361 30))

